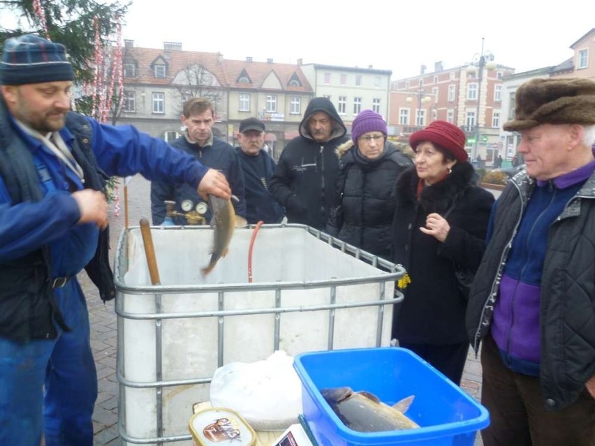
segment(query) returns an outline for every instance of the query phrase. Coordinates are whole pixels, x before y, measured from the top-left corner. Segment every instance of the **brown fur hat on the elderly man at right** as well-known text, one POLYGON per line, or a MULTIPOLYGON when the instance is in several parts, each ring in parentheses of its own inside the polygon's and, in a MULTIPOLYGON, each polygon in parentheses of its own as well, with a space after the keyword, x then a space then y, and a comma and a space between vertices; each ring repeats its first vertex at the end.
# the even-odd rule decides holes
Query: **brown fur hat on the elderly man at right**
POLYGON ((595 124, 595 82, 566 77, 533 79, 517 89, 515 119, 502 126, 522 131, 541 124, 595 124))

